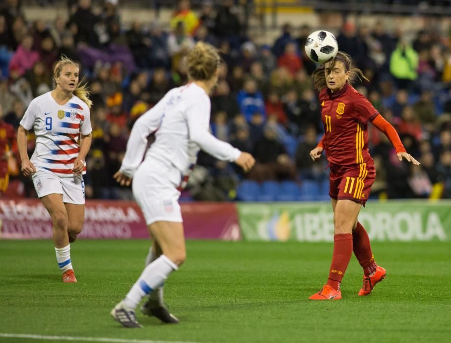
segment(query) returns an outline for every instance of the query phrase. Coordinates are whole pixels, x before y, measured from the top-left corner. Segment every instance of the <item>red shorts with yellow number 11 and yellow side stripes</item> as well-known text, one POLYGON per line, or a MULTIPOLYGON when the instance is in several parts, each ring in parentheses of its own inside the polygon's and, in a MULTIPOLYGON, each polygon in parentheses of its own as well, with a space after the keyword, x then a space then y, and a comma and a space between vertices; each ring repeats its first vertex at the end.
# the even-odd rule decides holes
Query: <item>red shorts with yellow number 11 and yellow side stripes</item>
POLYGON ((329 164, 329 196, 335 200, 348 199, 365 206, 376 178, 373 159, 355 166, 329 164))

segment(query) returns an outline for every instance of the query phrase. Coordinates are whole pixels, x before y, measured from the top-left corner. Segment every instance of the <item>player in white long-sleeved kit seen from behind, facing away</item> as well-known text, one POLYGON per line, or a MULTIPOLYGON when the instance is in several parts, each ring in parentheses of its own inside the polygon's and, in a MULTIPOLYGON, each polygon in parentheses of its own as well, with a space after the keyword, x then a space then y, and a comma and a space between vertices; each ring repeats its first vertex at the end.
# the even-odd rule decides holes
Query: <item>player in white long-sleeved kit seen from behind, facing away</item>
POLYGON ((209 44, 197 43, 187 57, 190 83, 166 93, 133 126, 122 165, 114 177, 121 185, 133 178, 133 195, 142 209, 153 238, 147 266, 111 316, 125 327, 141 327, 135 309, 150 294, 141 310, 166 323, 178 323, 163 302, 163 284, 185 261, 185 236, 178 199, 200 149, 235 162, 249 171, 255 160, 209 133, 209 94, 217 82, 219 55, 209 44), (147 136, 155 142, 147 149, 147 136), (142 157, 145 153, 144 161, 142 157))

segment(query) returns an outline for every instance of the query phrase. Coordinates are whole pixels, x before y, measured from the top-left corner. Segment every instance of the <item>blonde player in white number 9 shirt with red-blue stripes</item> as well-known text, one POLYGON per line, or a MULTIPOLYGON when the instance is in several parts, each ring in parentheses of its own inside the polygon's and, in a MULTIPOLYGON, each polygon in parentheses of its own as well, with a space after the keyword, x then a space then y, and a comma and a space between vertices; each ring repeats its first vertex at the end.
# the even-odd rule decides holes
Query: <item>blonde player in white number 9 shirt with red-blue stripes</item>
POLYGON ((34 188, 53 224, 56 261, 63 282, 77 282, 71 263, 71 245, 85 217, 85 157, 92 140, 86 84, 78 84, 79 66, 63 57, 55 66, 55 89, 31 101, 22 118, 17 143, 22 172, 31 175, 34 188), (34 129, 36 147, 28 158, 28 130, 34 129), (80 143, 79 143, 80 141, 80 143))

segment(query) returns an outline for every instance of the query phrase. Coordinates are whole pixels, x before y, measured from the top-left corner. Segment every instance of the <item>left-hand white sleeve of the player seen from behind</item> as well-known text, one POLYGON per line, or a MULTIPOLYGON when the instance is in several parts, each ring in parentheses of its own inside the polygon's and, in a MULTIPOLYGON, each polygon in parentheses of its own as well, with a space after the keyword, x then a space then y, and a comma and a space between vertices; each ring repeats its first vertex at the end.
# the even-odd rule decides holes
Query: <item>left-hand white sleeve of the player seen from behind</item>
POLYGON ((133 125, 127 142, 127 150, 119 169, 128 177, 133 177, 142 162, 147 147, 147 137, 160 126, 165 104, 164 99, 161 99, 154 107, 145 112, 133 125))

